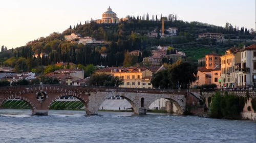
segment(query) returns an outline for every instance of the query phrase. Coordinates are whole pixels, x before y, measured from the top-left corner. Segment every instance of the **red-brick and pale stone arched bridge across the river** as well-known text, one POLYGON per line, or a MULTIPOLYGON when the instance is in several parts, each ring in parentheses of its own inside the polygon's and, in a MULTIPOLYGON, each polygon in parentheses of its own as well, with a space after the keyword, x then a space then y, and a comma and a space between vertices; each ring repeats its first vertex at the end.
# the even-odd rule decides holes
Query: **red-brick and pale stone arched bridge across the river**
POLYGON ((0 88, 0 106, 9 99, 26 101, 33 115, 48 115, 51 104, 60 97, 73 96, 83 102, 87 115, 95 115, 102 102, 111 96, 129 101, 135 114, 145 114, 151 103, 159 98, 170 100, 183 114, 186 90, 130 89, 114 87, 83 87, 71 85, 25 85, 0 88))

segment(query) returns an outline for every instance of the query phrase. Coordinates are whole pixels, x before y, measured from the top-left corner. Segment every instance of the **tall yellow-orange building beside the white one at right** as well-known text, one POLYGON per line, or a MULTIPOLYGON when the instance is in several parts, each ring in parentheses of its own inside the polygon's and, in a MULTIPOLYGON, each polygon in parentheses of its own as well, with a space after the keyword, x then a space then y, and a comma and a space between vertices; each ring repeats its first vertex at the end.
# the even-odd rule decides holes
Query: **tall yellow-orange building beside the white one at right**
POLYGON ((234 88, 235 81, 235 54, 239 49, 232 47, 226 50, 225 55, 221 56, 221 87, 234 88))

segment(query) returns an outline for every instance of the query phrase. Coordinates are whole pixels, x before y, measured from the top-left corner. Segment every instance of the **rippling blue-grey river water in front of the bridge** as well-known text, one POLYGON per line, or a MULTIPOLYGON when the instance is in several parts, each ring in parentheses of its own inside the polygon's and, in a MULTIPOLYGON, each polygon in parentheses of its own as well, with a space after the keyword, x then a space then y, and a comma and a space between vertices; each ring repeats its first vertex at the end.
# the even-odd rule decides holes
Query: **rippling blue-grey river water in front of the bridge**
POLYGON ((132 112, 0 109, 0 142, 256 142, 255 121, 132 112))

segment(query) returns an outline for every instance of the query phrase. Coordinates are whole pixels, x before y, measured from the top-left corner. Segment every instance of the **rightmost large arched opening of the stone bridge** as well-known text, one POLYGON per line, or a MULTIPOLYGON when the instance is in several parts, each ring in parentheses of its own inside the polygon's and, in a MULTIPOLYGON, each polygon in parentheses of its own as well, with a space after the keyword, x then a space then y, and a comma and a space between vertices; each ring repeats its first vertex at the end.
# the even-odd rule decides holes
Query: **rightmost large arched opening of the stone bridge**
POLYGON ((180 113, 181 107, 173 99, 159 98, 148 106, 148 111, 166 112, 166 113, 180 113))

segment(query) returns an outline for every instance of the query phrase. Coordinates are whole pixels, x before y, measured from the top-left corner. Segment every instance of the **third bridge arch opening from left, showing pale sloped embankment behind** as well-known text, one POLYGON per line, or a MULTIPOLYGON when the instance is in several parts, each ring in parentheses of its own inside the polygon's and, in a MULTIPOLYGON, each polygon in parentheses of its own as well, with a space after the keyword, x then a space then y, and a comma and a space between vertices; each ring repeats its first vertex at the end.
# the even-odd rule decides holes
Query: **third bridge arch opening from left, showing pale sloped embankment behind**
POLYGON ((99 106, 99 111, 125 111, 132 112, 131 100, 123 96, 111 96, 106 98, 99 106))

